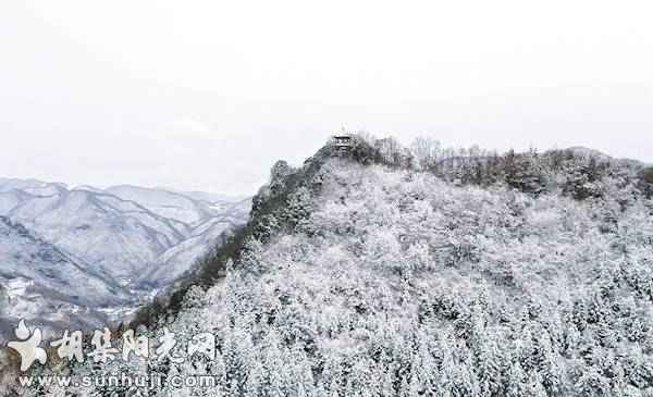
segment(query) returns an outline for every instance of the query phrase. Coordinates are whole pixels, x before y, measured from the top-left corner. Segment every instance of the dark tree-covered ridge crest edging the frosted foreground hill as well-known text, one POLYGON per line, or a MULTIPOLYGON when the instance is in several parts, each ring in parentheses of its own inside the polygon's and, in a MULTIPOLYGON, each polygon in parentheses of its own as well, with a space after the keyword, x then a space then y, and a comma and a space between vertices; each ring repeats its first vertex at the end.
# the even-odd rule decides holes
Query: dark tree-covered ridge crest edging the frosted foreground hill
MULTIPOLYGON (((436 145, 440 147, 440 144, 436 145)), ((446 149, 443 153, 454 152, 453 149, 446 149)), ((469 151, 471 153, 471 150, 469 151)), ((201 286, 202 288, 210 287, 217 280, 221 280, 226 275, 229 263, 237 263, 242 251, 246 251, 246 240, 248 238, 266 240, 266 235, 271 235, 278 231, 279 225, 267 224, 270 215, 274 218, 274 212, 287 204, 289 196, 299 187, 306 187, 310 184, 310 188, 319 189, 321 182, 319 177, 317 181, 310 181, 316 176, 325 163, 326 160, 333 158, 344 157, 346 161, 353 161, 362 165, 381 164, 392 169, 415 169, 422 170, 426 172, 433 173, 439 177, 442 177, 449 182, 458 181, 461 175, 468 174, 467 182, 463 183, 477 183, 473 182, 469 174, 478 172, 478 168, 486 166, 488 178, 483 183, 496 184, 498 178, 503 178, 503 184, 507 184, 508 187, 519 189, 522 191, 533 193, 533 187, 521 182, 528 181, 529 184, 534 183, 534 191, 544 188, 541 181, 533 181, 533 176, 529 175, 530 172, 538 172, 540 170, 532 170, 532 159, 529 157, 534 156, 533 159, 538 159, 537 152, 525 152, 515 153, 513 150, 498 154, 496 152, 490 152, 486 157, 480 161, 480 157, 468 157, 464 158, 466 161, 459 162, 459 164, 452 164, 451 169, 445 170, 439 169, 443 163, 447 163, 447 160, 454 158, 451 154, 444 156, 444 158, 433 158, 432 153, 427 156, 427 160, 431 163, 422 163, 423 158, 419 158, 418 153, 412 153, 408 148, 402 146, 398 141, 393 138, 377 139, 367 134, 354 134, 352 136, 352 144, 348 149, 343 153, 335 145, 328 142, 320 148, 315 156, 305 160, 304 164, 297 169, 291 168, 285 161, 278 161, 271 170, 270 182, 263 185, 257 195, 252 198, 252 208, 249 220, 246 225, 236 229, 234 235, 229 237, 221 249, 210 253, 212 257, 202 258, 200 261, 201 265, 195 269, 194 273, 187 278, 177 281, 171 286, 164 294, 158 297, 150 306, 141 308, 136 312, 135 317, 127 319, 123 326, 137 326, 140 324, 156 323, 159 315, 167 312, 175 313, 180 310, 184 295, 193 286, 201 286), (518 162, 518 164, 516 163, 518 162), (433 168, 433 164, 435 168, 433 168), (471 165, 471 168, 469 166, 471 165), (522 170, 516 170, 517 166, 521 166, 522 170), (476 169, 475 169, 476 168, 476 169), (506 170, 497 171, 497 168, 504 168, 506 170), (498 173, 501 175, 491 175, 492 173, 498 173), (281 207, 280 207, 281 206, 281 207), (275 208, 276 207, 276 208, 275 208)), ((546 162, 550 166, 555 168, 554 172, 567 172, 563 170, 558 163, 568 161, 572 163, 575 168, 581 169, 581 173, 586 172, 587 164, 594 164, 600 161, 607 168, 609 164, 615 164, 628 170, 637 170, 632 172, 630 176, 633 179, 640 179, 638 183, 639 188, 643 190, 645 195, 653 195, 653 184, 642 185, 642 171, 645 170, 643 162, 630 159, 614 159, 607 154, 599 151, 587 149, 584 147, 571 147, 567 149, 551 149, 545 151, 543 157, 546 158, 546 162), (582 149, 582 150, 581 150, 582 149), (558 169, 559 168, 559 169, 558 169)), ((591 165, 596 166, 596 165, 591 165)), ((591 170, 592 173, 601 173, 605 170, 591 170)), ((571 175, 577 177, 576 175, 571 175)), ((591 175, 591 178, 597 175, 591 175)), ((592 188, 594 187, 593 182, 588 182, 588 176, 582 174, 580 181, 569 179, 565 186, 560 186, 560 189, 568 189, 563 191, 565 195, 576 195, 577 199, 586 199, 592 197, 592 188), (584 178, 584 179, 583 179, 584 178), (589 187, 588 187, 589 185, 589 187), (588 191, 589 190, 589 191, 588 191)), ((459 182, 457 182, 459 183, 459 182)), ((283 216, 281 216, 283 218, 283 216)), ((293 225, 294 226, 294 225, 293 225)))

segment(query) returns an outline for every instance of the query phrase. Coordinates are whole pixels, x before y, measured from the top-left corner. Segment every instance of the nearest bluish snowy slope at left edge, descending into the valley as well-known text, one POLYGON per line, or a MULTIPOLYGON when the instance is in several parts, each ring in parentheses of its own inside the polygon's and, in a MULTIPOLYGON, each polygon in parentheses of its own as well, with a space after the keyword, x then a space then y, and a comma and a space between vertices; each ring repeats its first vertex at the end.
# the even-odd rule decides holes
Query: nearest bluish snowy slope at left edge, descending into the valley
MULTIPOLYGON (((87 263, 4 216, 0 216, 0 258, 2 298, 7 299, 0 306, 2 324, 24 319, 50 335, 50 330, 103 324, 107 318, 98 309, 135 303, 110 277, 94 273, 87 263)), ((0 342, 4 342, 2 331, 0 342)))

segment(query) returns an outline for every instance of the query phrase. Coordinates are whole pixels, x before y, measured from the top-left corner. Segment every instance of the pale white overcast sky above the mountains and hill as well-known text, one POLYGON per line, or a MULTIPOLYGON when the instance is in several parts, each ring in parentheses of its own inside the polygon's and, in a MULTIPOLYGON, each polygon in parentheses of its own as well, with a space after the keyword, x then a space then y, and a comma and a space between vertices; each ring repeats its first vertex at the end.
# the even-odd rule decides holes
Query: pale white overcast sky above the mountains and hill
POLYGON ((0 5, 0 176, 251 194, 341 125, 653 161, 650 1, 0 5))

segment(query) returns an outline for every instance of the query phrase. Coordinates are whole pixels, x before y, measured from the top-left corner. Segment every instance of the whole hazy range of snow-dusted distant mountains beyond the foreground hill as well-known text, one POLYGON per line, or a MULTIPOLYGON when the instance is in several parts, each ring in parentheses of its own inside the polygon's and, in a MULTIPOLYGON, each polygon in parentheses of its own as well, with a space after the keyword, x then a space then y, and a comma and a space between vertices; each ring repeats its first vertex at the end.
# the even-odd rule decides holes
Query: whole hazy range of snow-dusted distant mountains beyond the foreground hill
POLYGON ((17 318, 58 327, 124 314, 249 209, 200 191, 0 178, 0 338, 17 318))

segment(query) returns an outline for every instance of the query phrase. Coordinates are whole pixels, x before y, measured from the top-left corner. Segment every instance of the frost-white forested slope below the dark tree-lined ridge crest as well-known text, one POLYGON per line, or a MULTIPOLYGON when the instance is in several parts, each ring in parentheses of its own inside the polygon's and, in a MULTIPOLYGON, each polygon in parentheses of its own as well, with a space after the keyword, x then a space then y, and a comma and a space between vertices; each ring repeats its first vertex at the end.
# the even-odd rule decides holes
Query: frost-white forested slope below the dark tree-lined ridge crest
POLYGON ((651 390, 650 201, 322 171, 306 221, 251 243, 170 325, 218 334, 230 395, 651 390))

